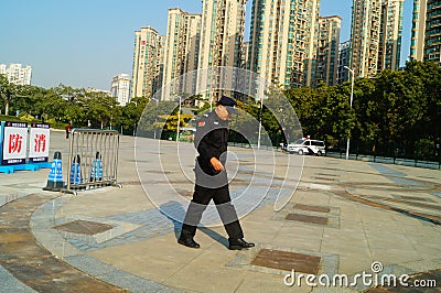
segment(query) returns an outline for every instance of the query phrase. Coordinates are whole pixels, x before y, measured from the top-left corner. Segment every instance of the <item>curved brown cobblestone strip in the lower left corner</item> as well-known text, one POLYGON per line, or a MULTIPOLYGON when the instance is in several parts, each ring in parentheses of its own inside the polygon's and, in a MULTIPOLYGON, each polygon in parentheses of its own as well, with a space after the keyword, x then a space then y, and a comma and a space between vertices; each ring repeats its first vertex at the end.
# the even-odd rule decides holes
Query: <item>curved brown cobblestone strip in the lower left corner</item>
POLYGON ((56 195, 31 194, 0 207, 0 264, 37 292, 125 292, 56 259, 33 237, 33 211, 56 195))

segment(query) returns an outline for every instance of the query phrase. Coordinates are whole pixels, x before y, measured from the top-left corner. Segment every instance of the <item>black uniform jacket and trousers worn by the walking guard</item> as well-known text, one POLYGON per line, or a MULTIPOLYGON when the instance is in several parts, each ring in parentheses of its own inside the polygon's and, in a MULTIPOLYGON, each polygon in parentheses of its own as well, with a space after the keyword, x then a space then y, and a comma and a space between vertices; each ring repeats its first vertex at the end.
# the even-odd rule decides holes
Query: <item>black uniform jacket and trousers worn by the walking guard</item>
POLYGON ((217 172, 209 162, 212 158, 216 158, 225 166, 227 127, 228 121, 218 118, 215 111, 204 115, 197 123, 194 139, 194 145, 200 154, 195 166, 196 184, 182 226, 183 237, 195 235, 202 213, 213 198, 229 239, 244 238, 236 209, 230 203, 227 173, 217 172))

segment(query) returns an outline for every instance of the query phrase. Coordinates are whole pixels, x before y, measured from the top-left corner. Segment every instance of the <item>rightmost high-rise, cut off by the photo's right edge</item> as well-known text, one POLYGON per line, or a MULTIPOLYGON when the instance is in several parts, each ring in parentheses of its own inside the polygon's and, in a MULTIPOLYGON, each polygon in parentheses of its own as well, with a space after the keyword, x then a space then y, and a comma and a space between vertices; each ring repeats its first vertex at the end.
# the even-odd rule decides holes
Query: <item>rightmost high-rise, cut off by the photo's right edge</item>
POLYGON ((441 1, 413 0, 410 59, 441 63, 441 1))

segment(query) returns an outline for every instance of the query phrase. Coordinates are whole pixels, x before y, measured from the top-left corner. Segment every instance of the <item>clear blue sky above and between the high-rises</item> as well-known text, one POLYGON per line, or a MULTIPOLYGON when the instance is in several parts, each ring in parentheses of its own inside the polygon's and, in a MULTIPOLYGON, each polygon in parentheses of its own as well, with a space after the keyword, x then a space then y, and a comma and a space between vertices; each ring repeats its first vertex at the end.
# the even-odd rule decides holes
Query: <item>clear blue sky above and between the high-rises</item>
MULTIPOLYGON (((401 64, 409 55, 411 6, 405 0, 401 64)), ((175 7, 201 13, 202 1, 0 0, 0 63, 31 65, 32 85, 44 88, 108 90, 115 75, 131 75, 135 31, 151 25, 165 34, 168 9, 175 7)), ((343 19, 341 42, 349 39, 351 7, 352 0, 321 0, 321 15, 343 19)))

